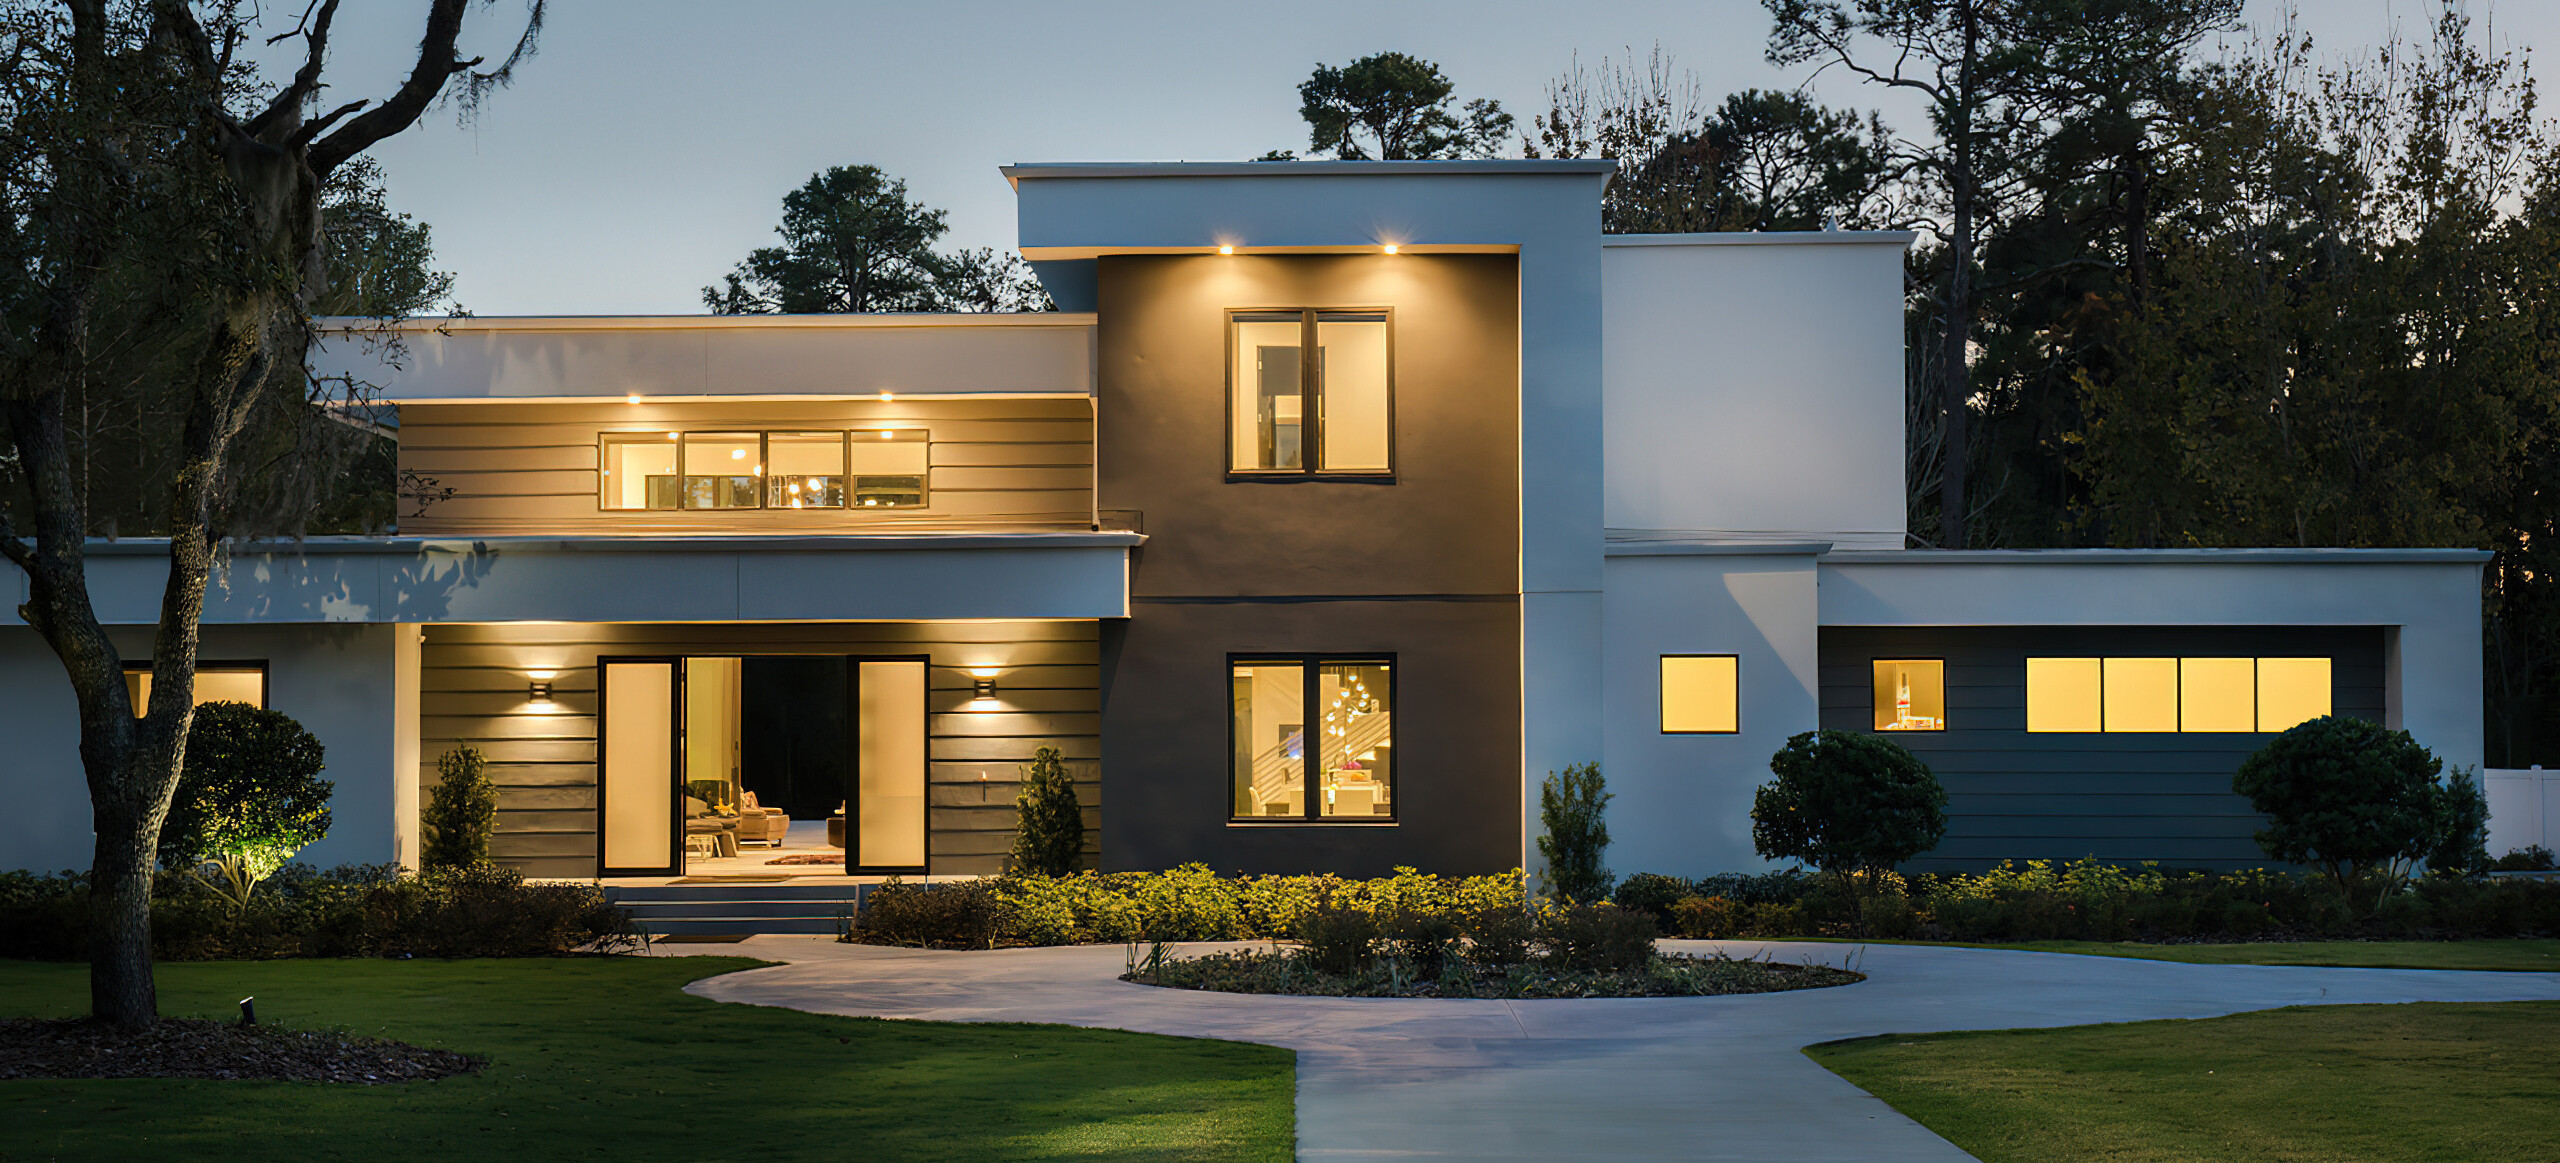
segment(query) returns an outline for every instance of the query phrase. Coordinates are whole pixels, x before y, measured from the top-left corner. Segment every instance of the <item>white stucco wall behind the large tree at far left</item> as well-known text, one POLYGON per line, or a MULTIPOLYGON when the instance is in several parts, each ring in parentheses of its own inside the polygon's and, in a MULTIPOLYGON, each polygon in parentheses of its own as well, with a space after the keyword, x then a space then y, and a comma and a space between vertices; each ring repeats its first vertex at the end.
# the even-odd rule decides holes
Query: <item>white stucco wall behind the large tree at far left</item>
MULTIPOLYGON (((148 628, 110 633, 125 658, 151 656, 148 628)), ((292 715, 328 748, 323 779, 338 784, 330 835, 302 850, 305 863, 381 863, 415 843, 402 840, 399 817, 402 786, 412 786, 415 797, 415 743, 402 766, 397 722, 397 635, 415 633, 399 625, 205 628, 202 658, 266 658, 266 704, 292 715)), ((0 802, 10 804, 0 812, 0 868, 87 868, 90 792, 79 771, 72 684, 54 651, 23 625, 0 628, 0 740, 8 748, 0 802)), ((415 827, 415 809, 407 827, 415 827)))

